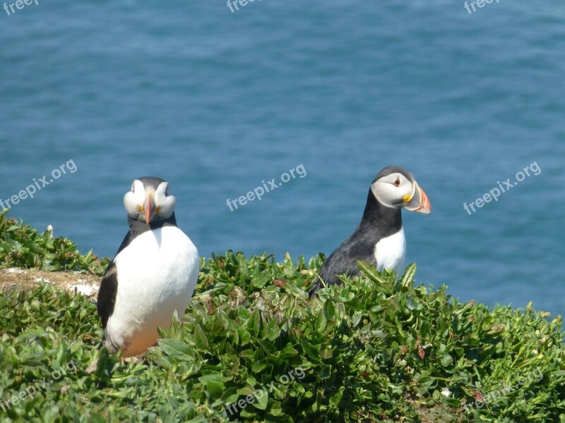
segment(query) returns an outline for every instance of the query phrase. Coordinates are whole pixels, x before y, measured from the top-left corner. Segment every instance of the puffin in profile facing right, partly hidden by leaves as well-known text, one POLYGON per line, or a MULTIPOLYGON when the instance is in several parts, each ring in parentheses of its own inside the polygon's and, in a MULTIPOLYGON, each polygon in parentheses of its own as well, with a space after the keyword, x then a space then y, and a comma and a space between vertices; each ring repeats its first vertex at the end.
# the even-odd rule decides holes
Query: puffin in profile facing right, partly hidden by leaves
POLYGON ((406 255, 402 209, 424 214, 432 211, 412 173, 387 166, 371 183, 361 222, 323 264, 309 297, 323 286, 340 283, 339 275, 358 275, 357 260, 371 263, 378 271, 390 269, 400 274, 406 255))

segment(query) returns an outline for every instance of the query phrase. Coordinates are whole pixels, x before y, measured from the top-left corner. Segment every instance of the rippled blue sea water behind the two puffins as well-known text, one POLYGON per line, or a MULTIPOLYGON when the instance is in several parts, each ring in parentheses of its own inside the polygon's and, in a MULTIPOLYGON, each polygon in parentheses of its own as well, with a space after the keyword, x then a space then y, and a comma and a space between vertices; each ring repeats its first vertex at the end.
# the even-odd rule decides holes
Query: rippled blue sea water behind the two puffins
POLYGON ((371 180, 398 164, 432 202, 404 214, 419 283, 562 314, 564 23, 559 0, 0 9, 0 199, 72 160, 9 215, 112 256, 131 181, 161 176, 201 255, 308 258, 352 232, 371 180), (539 175, 465 212, 533 163, 539 175))

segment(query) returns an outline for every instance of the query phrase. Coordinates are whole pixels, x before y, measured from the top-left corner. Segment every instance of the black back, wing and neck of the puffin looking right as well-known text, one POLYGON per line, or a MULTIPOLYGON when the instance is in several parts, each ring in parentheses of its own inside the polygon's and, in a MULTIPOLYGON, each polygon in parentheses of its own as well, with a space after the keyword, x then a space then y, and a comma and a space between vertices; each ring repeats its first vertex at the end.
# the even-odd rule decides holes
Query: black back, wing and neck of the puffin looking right
MULTIPOLYGON (((389 169, 387 168, 387 170, 389 169)), ((381 173, 383 172, 381 171, 381 173)), ((384 176, 381 173, 376 176, 375 180, 384 176)), ((393 171, 388 173, 393 173, 393 171)), ((332 285, 340 283, 336 275, 346 273, 350 276, 358 275, 357 260, 365 260, 376 265, 375 244, 382 238, 397 233, 400 228, 402 228, 400 209, 383 206, 376 200, 369 188, 367 204, 361 222, 350 237, 343 241, 323 264, 309 290, 310 297, 323 287, 322 281, 326 285, 332 285)))

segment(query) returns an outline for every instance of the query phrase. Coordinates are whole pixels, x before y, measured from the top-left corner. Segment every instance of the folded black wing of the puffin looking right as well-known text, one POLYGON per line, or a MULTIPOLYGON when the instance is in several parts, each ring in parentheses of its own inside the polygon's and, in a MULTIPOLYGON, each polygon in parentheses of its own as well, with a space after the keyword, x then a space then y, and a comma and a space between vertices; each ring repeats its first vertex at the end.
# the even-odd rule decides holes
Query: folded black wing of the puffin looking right
POLYGON ((375 245, 371 242, 371 236, 367 234, 367 231, 362 231, 360 227, 357 228, 347 240, 331 253, 323 264, 309 290, 310 298, 317 290, 323 288, 323 283, 326 286, 340 283, 338 275, 357 276, 359 274, 357 260, 376 264, 374 247, 375 245))

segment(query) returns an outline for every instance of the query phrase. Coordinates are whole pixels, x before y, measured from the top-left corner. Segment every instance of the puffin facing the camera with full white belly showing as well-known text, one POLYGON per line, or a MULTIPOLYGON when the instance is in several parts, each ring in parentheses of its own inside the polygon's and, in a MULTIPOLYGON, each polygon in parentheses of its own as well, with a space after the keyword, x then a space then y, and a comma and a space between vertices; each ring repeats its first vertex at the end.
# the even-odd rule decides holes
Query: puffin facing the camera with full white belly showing
MULTIPOLYGON (((161 178, 137 178, 124 195, 129 232, 107 266, 98 291, 102 345, 121 357, 156 345, 157 328, 179 319, 198 282, 196 247, 177 227, 176 199, 161 178)), ((101 345, 101 346, 102 346, 101 345)))

